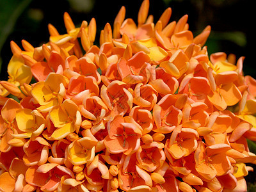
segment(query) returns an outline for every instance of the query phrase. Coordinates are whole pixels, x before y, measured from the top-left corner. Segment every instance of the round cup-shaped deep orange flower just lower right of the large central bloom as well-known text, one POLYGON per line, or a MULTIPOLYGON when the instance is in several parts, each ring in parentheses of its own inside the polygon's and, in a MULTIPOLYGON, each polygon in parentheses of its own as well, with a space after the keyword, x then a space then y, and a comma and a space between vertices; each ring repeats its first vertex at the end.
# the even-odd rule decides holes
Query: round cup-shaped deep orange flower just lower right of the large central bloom
POLYGON ((138 166, 147 172, 154 172, 156 168, 163 165, 165 154, 163 151, 163 143, 153 141, 150 144, 141 145, 136 152, 138 166))

